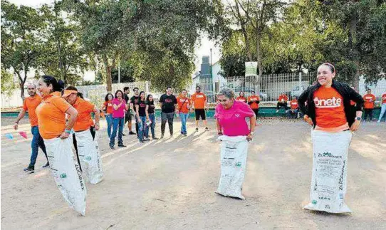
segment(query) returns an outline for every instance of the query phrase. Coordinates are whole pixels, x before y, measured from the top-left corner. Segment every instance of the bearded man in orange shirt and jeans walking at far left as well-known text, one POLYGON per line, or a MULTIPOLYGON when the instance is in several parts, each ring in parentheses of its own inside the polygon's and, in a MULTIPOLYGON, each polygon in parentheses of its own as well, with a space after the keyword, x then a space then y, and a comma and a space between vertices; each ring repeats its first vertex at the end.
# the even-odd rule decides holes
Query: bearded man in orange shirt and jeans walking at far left
POLYGON ((43 168, 50 166, 48 163, 48 158, 47 158, 47 152, 46 152, 46 146, 44 145, 43 138, 41 138, 40 133, 39 133, 39 128, 38 128, 38 117, 36 117, 36 107, 41 103, 41 96, 36 94, 36 86, 33 85, 33 83, 28 83, 27 85, 27 92, 30 95, 29 98, 26 98, 23 103, 23 109, 21 109, 18 117, 16 118, 14 129, 18 129, 19 125, 19 120, 26 115, 26 112, 28 111, 28 117, 29 121, 31 122, 31 133, 33 135, 32 137, 32 142, 31 142, 31 147, 32 147, 32 153, 31 153, 31 161, 24 169, 25 172, 30 172, 33 173, 35 172, 35 163, 36 163, 36 158, 38 157, 38 150, 39 147, 41 150, 43 150, 44 155, 46 155, 47 163, 43 166, 43 168))

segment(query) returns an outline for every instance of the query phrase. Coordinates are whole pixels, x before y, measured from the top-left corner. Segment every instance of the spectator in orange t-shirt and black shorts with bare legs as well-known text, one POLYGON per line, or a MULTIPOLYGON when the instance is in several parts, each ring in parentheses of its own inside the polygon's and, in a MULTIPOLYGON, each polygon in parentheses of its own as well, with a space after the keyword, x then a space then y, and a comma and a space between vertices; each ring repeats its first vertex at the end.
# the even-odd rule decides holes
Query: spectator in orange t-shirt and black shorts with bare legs
POLYGON ((205 131, 208 131, 207 126, 207 116, 205 115, 205 110, 208 109, 207 95, 201 92, 201 87, 196 87, 196 93, 192 95, 192 112, 196 113, 196 132, 199 130, 199 117, 205 125, 205 131))

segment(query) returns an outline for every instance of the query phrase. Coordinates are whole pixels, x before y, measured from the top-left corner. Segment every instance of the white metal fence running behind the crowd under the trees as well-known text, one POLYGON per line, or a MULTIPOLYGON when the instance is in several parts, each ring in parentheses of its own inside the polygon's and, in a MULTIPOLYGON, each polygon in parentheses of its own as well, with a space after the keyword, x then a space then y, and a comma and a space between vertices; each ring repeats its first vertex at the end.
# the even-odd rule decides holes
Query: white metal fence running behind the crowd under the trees
MULTIPOLYGON (((244 92, 246 96, 249 96, 251 95, 251 91, 254 90, 260 92, 261 104, 270 106, 272 103, 276 103, 280 93, 286 93, 289 98, 293 95, 300 95, 304 89, 316 80, 316 77, 315 73, 268 74, 262 75, 260 83, 258 76, 234 76, 215 79, 221 80, 212 80, 212 78, 195 79, 190 87, 190 93, 193 93, 194 88, 199 85, 202 88, 202 92, 207 95, 208 102, 215 103, 217 93, 219 93, 219 90, 224 86, 233 88, 237 96, 240 92, 244 92)), ((137 87, 140 91, 145 91, 146 94, 152 94, 156 102, 160 96, 165 93, 152 90, 152 85, 149 81, 113 84, 113 92, 118 89, 123 90, 126 86, 130 88, 130 95, 132 95, 132 89, 137 87)), ((372 93, 377 97, 377 100, 380 100, 382 93, 386 92, 386 80, 379 80, 375 85, 366 85, 365 80, 361 78, 359 87, 360 95, 365 95, 366 88, 370 88, 372 93)), ((85 85, 76 86, 76 88, 83 93, 85 98, 89 98, 98 106, 102 105, 107 93, 106 85, 85 85)), ((20 92, 20 90, 15 90, 11 96, 1 94, 1 108, 21 106, 23 101, 21 100, 20 92)), ((173 91, 173 93, 177 95, 177 92, 173 91)), ((25 95, 26 97, 28 96, 26 91, 25 95)))

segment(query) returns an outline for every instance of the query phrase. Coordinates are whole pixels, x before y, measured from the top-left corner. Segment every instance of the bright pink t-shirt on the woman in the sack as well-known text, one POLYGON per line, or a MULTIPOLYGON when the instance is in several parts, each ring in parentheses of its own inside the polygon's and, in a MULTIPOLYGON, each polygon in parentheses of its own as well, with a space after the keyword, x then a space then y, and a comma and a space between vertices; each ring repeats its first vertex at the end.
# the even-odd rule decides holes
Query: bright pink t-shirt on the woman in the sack
POLYGON ((217 118, 222 127, 222 133, 230 137, 248 135, 249 127, 245 117, 253 117, 254 115, 254 111, 249 108, 248 104, 237 100, 228 110, 219 103, 214 113, 214 117, 217 118))

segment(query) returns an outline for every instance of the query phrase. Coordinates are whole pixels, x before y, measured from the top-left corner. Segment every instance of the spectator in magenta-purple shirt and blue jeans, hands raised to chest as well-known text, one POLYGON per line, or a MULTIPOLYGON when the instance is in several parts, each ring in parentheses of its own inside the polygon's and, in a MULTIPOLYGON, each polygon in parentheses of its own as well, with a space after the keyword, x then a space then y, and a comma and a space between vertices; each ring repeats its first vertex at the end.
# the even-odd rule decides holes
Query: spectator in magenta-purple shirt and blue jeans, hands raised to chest
POLYGON ((122 90, 115 92, 115 98, 111 101, 113 104, 113 133, 110 135, 110 148, 114 150, 115 137, 118 130, 118 147, 126 147, 123 145, 122 132, 124 125, 124 117, 126 108, 126 101, 123 99, 122 90))

